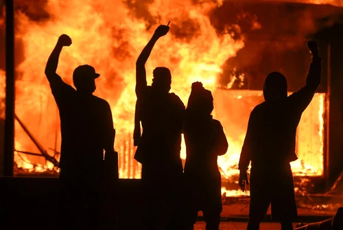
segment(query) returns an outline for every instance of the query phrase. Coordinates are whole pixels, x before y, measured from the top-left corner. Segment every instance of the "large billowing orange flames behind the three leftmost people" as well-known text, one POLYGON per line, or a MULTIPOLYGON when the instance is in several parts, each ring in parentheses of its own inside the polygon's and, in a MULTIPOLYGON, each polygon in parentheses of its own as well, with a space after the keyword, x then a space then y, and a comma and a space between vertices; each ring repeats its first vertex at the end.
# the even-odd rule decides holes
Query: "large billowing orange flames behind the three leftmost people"
MULTIPOLYGON (((151 82, 154 67, 169 67, 173 75, 172 89, 183 102, 187 102, 192 82, 201 81, 206 88, 214 90, 222 64, 244 47, 243 41, 233 40, 234 34, 217 34, 207 16, 216 6, 215 3, 192 5, 191 1, 156 1, 148 7, 154 19, 160 18, 161 23, 171 21, 171 33, 158 41, 147 63, 148 80, 151 82), (173 27, 182 28, 189 22, 198 26, 193 34, 185 38, 173 34, 173 27)), ((65 82, 71 83, 73 69, 87 63, 102 74, 95 94, 110 103, 117 130, 116 148, 129 162, 134 149, 124 147, 130 145, 124 142, 131 136, 134 124, 134 63, 158 23, 147 30, 146 22, 131 16, 121 1, 80 4, 51 0, 46 10, 51 19, 43 23, 29 21, 24 14, 17 15, 20 24, 16 36, 23 40, 25 60, 16 69, 21 73, 21 79, 16 82, 16 113, 44 141, 46 148, 54 146, 59 122, 44 68, 58 36, 69 34, 73 44, 63 49, 58 73, 65 82)), ((17 127, 16 140, 20 140, 25 150, 34 151, 24 136, 17 127)), ((137 170, 131 175, 121 170, 120 176, 136 178, 137 170)))

